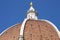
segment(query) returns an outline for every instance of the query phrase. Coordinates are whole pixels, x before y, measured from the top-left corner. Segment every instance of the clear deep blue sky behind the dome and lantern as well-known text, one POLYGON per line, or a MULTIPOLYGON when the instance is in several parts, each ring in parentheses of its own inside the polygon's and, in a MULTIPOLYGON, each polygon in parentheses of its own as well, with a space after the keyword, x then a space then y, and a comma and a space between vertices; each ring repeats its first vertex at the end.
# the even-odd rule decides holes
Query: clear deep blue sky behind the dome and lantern
POLYGON ((0 33, 6 28, 22 23, 33 2, 39 19, 53 22, 60 30, 60 0, 0 0, 0 33))

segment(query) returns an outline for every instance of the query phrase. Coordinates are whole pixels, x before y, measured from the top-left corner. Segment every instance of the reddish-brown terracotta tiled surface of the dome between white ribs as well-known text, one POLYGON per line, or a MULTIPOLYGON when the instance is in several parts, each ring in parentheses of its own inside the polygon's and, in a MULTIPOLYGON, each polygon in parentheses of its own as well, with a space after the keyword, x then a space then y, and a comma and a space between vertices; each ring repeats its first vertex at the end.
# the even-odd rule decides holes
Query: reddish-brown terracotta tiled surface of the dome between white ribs
MULTIPOLYGON (((0 40, 18 40, 21 24, 6 30, 0 40)), ((55 28, 45 21, 28 20, 24 29, 24 40, 59 40, 55 28)))

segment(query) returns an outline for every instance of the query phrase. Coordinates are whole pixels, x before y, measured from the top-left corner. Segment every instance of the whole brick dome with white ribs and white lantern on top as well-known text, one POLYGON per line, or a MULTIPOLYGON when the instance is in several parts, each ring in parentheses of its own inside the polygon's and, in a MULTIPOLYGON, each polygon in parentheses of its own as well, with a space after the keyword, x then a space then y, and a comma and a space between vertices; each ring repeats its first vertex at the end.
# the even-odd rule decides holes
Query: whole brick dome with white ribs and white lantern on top
POLYGON ((58 28, 48 20, 38 19, 36 14, 31 2, 24 21, 4 30, 0 40, 60 40, 58 28))

